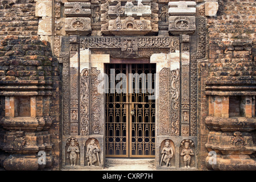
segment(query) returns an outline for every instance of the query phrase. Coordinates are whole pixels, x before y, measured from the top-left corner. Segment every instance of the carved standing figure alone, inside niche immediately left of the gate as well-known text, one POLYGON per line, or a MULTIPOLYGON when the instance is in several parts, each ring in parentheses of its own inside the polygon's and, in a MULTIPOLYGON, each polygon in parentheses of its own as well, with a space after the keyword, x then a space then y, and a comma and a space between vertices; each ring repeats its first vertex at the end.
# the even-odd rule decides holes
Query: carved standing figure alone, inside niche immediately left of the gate
POLYGON ((90 143, 87 145, 86 159, 88 160, 88 166, 94 166, 94 163, 98 161, 100 164, 100 158, 98 156, 100 149, 95 143, 95 139, 90 140, 90 143))

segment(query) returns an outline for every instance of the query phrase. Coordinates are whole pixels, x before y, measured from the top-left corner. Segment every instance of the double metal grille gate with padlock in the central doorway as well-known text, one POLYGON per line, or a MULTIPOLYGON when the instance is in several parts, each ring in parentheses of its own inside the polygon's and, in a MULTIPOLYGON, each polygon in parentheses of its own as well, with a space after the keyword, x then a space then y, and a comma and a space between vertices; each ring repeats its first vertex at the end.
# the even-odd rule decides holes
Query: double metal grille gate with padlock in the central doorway
POLYGON ((106 64, 106 156, 155 156, 155 64, 106 64))

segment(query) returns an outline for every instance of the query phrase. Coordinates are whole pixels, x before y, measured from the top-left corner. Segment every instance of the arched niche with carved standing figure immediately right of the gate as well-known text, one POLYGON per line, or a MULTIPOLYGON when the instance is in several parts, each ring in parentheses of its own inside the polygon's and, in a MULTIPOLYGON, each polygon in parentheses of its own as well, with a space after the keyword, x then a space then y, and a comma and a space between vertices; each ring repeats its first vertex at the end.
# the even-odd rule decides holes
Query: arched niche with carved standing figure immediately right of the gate
POLYGON ((159 148, 159 167, 175 167, 175 144, 170 139, 165 139, 159 148))

